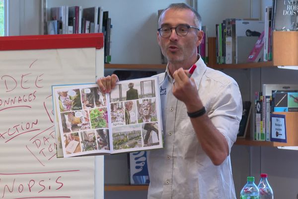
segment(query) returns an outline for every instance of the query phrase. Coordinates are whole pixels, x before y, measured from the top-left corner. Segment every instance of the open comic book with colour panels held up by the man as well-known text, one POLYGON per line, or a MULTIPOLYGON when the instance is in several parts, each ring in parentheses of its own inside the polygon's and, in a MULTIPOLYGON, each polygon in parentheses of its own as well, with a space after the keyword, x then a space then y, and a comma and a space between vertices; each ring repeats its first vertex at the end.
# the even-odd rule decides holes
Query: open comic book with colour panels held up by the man
POLYGON ((157 77, 52 86, 57 156, 104 155, 163 147, 157 77), (157 95, 156 95, 157 94, 157 95))

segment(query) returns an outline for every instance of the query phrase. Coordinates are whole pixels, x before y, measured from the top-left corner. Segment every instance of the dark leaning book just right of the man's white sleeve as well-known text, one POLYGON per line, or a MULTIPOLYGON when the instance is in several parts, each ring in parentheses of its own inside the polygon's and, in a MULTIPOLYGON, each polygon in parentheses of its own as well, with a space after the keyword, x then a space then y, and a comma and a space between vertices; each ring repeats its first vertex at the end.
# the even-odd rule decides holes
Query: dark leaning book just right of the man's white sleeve
POLYGON ((251 114, 251 102, 250 101, 242 101, 242 118, 239 124, 239 130, 237 133, 237 138, 245 138, 246 131, 248 128, 250 114, 251 114))

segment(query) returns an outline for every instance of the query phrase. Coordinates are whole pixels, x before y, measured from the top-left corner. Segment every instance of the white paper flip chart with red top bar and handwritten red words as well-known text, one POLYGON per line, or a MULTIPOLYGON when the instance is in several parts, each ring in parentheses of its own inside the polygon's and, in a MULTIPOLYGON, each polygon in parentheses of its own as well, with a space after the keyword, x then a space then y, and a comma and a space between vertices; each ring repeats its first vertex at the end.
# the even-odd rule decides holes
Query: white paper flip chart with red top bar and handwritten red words
POLYGON ((103 71, 102 33, 0 37, 0 198, 103 199, 103 156, 56 158, 51 92, 103 71))

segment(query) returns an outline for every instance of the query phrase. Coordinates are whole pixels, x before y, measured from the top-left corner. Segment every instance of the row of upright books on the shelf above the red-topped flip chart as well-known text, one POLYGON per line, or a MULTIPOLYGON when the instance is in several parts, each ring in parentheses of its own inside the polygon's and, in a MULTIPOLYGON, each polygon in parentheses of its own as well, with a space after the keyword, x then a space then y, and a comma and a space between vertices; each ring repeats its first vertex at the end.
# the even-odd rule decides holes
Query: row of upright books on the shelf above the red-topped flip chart
POLYGON ((105 63, 111 62, 111 18, 100 6, 51 7, 47 18, 47 34, 104 33, 105 63))

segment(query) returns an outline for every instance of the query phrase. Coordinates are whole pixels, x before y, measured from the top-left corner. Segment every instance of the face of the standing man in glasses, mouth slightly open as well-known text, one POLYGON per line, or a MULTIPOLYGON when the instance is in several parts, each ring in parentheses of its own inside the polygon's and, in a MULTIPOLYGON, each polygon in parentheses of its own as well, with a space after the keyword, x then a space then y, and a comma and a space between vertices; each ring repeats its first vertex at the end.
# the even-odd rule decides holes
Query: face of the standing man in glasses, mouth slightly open
MULTIPOLYGON (((176 27, 179 24, 197 26, 195 14, 189 9, 167 9, 160 18, 159 27, 176 27)), ((157 41, 162 54, 169 62, 183 62, 197 56, 197 46, 201 43, 202 32, 189 28, 186 36, 178 36, 174 29, 169 37, 163 38, 157 31, 157 41)))

